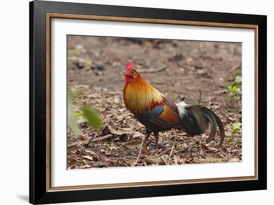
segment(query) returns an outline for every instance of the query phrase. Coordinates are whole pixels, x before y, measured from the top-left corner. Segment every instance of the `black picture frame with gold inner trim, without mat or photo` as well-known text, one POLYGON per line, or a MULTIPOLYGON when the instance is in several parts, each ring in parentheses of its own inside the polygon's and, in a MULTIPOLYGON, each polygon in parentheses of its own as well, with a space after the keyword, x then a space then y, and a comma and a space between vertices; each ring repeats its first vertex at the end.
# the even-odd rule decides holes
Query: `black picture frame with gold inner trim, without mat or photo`
POLYGON ((31 1, 29 202, 67 203, 267 189, 267 16, 53 1, 31 1), (51 19, 86 19, 255 30, 255 175, 51 187, 51 19))

